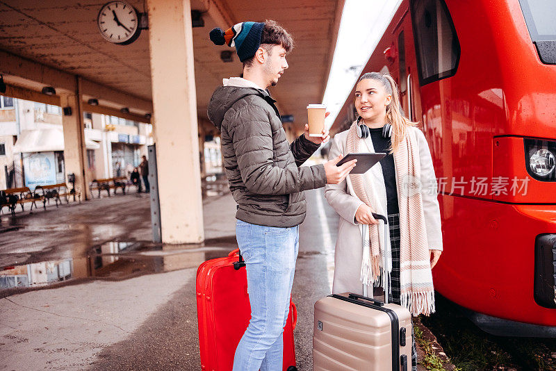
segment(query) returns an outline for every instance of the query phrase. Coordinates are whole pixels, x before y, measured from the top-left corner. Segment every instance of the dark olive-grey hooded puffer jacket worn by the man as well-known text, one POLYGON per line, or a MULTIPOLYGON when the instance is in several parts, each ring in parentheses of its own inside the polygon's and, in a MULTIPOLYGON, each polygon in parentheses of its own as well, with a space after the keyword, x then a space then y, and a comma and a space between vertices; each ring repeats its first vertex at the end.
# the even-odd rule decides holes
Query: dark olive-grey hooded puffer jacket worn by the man
POLYGON ((275 100, 266 90, 221 86, 208 104, 208 118, 220 130, 236 217, 264 226, 301 224, 303 190, 326 183, 323 165, 300 167, 319 145, 304 135, 288 145, 275 100))

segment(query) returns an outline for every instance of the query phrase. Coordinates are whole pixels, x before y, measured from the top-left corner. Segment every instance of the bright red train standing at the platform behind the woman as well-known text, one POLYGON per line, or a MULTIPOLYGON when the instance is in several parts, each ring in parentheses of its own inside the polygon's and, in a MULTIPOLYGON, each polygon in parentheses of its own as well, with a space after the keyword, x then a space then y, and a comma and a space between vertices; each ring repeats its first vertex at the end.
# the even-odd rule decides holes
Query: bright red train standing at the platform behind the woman
POLYGON ((362 72, 398 81, 429 142, 436 290, 498 335, 556 337, 555 13, 548 0, 404 0, 362 72))

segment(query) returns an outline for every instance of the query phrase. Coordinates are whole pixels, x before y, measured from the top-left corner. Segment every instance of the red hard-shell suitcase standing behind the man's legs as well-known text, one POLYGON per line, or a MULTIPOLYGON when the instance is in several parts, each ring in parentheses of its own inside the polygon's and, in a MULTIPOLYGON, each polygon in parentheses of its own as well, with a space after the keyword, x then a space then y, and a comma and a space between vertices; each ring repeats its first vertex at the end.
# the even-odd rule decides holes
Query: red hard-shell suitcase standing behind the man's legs
MULTIPOLYGON (((201 369, 229 371, 239 340, 251 319, 245 263, 236 249, 226 258, 205 261, 197 269, 197 320, 201 369)), ((296 371, 293 329, 295 304, 284 327, 284 371, 296 371)))

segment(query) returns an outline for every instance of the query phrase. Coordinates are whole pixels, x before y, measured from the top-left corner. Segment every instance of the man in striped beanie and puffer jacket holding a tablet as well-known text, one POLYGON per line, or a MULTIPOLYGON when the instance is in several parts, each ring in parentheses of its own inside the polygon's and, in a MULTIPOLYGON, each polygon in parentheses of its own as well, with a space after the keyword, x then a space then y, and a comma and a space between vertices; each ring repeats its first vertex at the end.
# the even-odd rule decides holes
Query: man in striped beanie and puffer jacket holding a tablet
POLYGON ((275 100, 266 88, 288 68, 291 35, 276 22, 243 22, 211 40, 236 47, 243 78, 224 79, 208 104, 208 118, 220 130, 224 167, 238 204, 236 237, 247 265, 251 320, 234 357, 234 370, 281 370, 282 331, 305 217, 304 190, 336 184, 355 166, 300 167, 329 139, 305 133, 288 145, 275 100))

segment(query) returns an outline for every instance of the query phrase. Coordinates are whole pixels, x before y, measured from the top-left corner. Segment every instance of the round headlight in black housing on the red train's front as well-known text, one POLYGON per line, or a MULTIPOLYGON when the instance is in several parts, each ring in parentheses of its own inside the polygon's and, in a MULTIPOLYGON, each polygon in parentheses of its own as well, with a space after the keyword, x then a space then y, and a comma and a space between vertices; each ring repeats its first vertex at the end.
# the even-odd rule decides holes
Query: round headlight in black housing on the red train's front
POLYGON ((525 139, 527 171, 539 181, 556 181, 556 141, 525 139))

